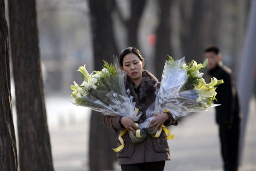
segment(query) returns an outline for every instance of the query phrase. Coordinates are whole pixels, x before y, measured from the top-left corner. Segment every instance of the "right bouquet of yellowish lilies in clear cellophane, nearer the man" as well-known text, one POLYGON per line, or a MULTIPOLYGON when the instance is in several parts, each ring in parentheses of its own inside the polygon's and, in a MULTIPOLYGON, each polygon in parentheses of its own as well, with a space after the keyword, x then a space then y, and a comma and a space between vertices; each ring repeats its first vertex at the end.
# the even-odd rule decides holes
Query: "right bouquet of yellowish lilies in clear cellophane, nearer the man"
POLYGON ((211 82, 206 84, 200 71, 206 67, 208 60, 203 64, 197 64, 192 60, 185 63, 185 57, 180 60, 169 60, 165 62, 161 86, 156 93, 155 102, 147 109, 145 122, 140 124, 140 128, 147 128, 154 113, 170 112, 174 119, 188 115, 195 111, 206 111, 209 107, 217 106, 216 100, 217 85, 223 80, 211 78, 211 82))

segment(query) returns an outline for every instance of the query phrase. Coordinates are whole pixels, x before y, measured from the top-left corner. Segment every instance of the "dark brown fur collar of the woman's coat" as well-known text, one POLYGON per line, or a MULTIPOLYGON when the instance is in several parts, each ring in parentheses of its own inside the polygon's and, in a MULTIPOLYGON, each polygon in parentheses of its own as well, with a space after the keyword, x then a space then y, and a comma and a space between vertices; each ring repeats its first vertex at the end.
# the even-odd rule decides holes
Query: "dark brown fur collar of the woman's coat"
POLYGON ((144 109, 145 105, 152 101, 152 98, 155 98, 155 91, 157 90, 158 85, 159 82, 157 78, 147 70, 143 70, 140 94, 138 98, 131 79, 127 77, 126 81, 126 89, 130 89, 130 95, 133 96, 133 101, 136 102, 136 107, 139 109, 144 109))

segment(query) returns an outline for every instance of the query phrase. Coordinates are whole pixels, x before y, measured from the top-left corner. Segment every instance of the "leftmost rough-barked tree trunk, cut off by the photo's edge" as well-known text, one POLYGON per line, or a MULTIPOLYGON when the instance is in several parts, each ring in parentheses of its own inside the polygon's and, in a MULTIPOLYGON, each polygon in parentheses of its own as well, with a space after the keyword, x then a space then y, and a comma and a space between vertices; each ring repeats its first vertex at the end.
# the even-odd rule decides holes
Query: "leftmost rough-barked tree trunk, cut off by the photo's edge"
POLYGON ((17 171, 16 138, 12 119, 8 27, 0 0, 0 170, 17 171))

